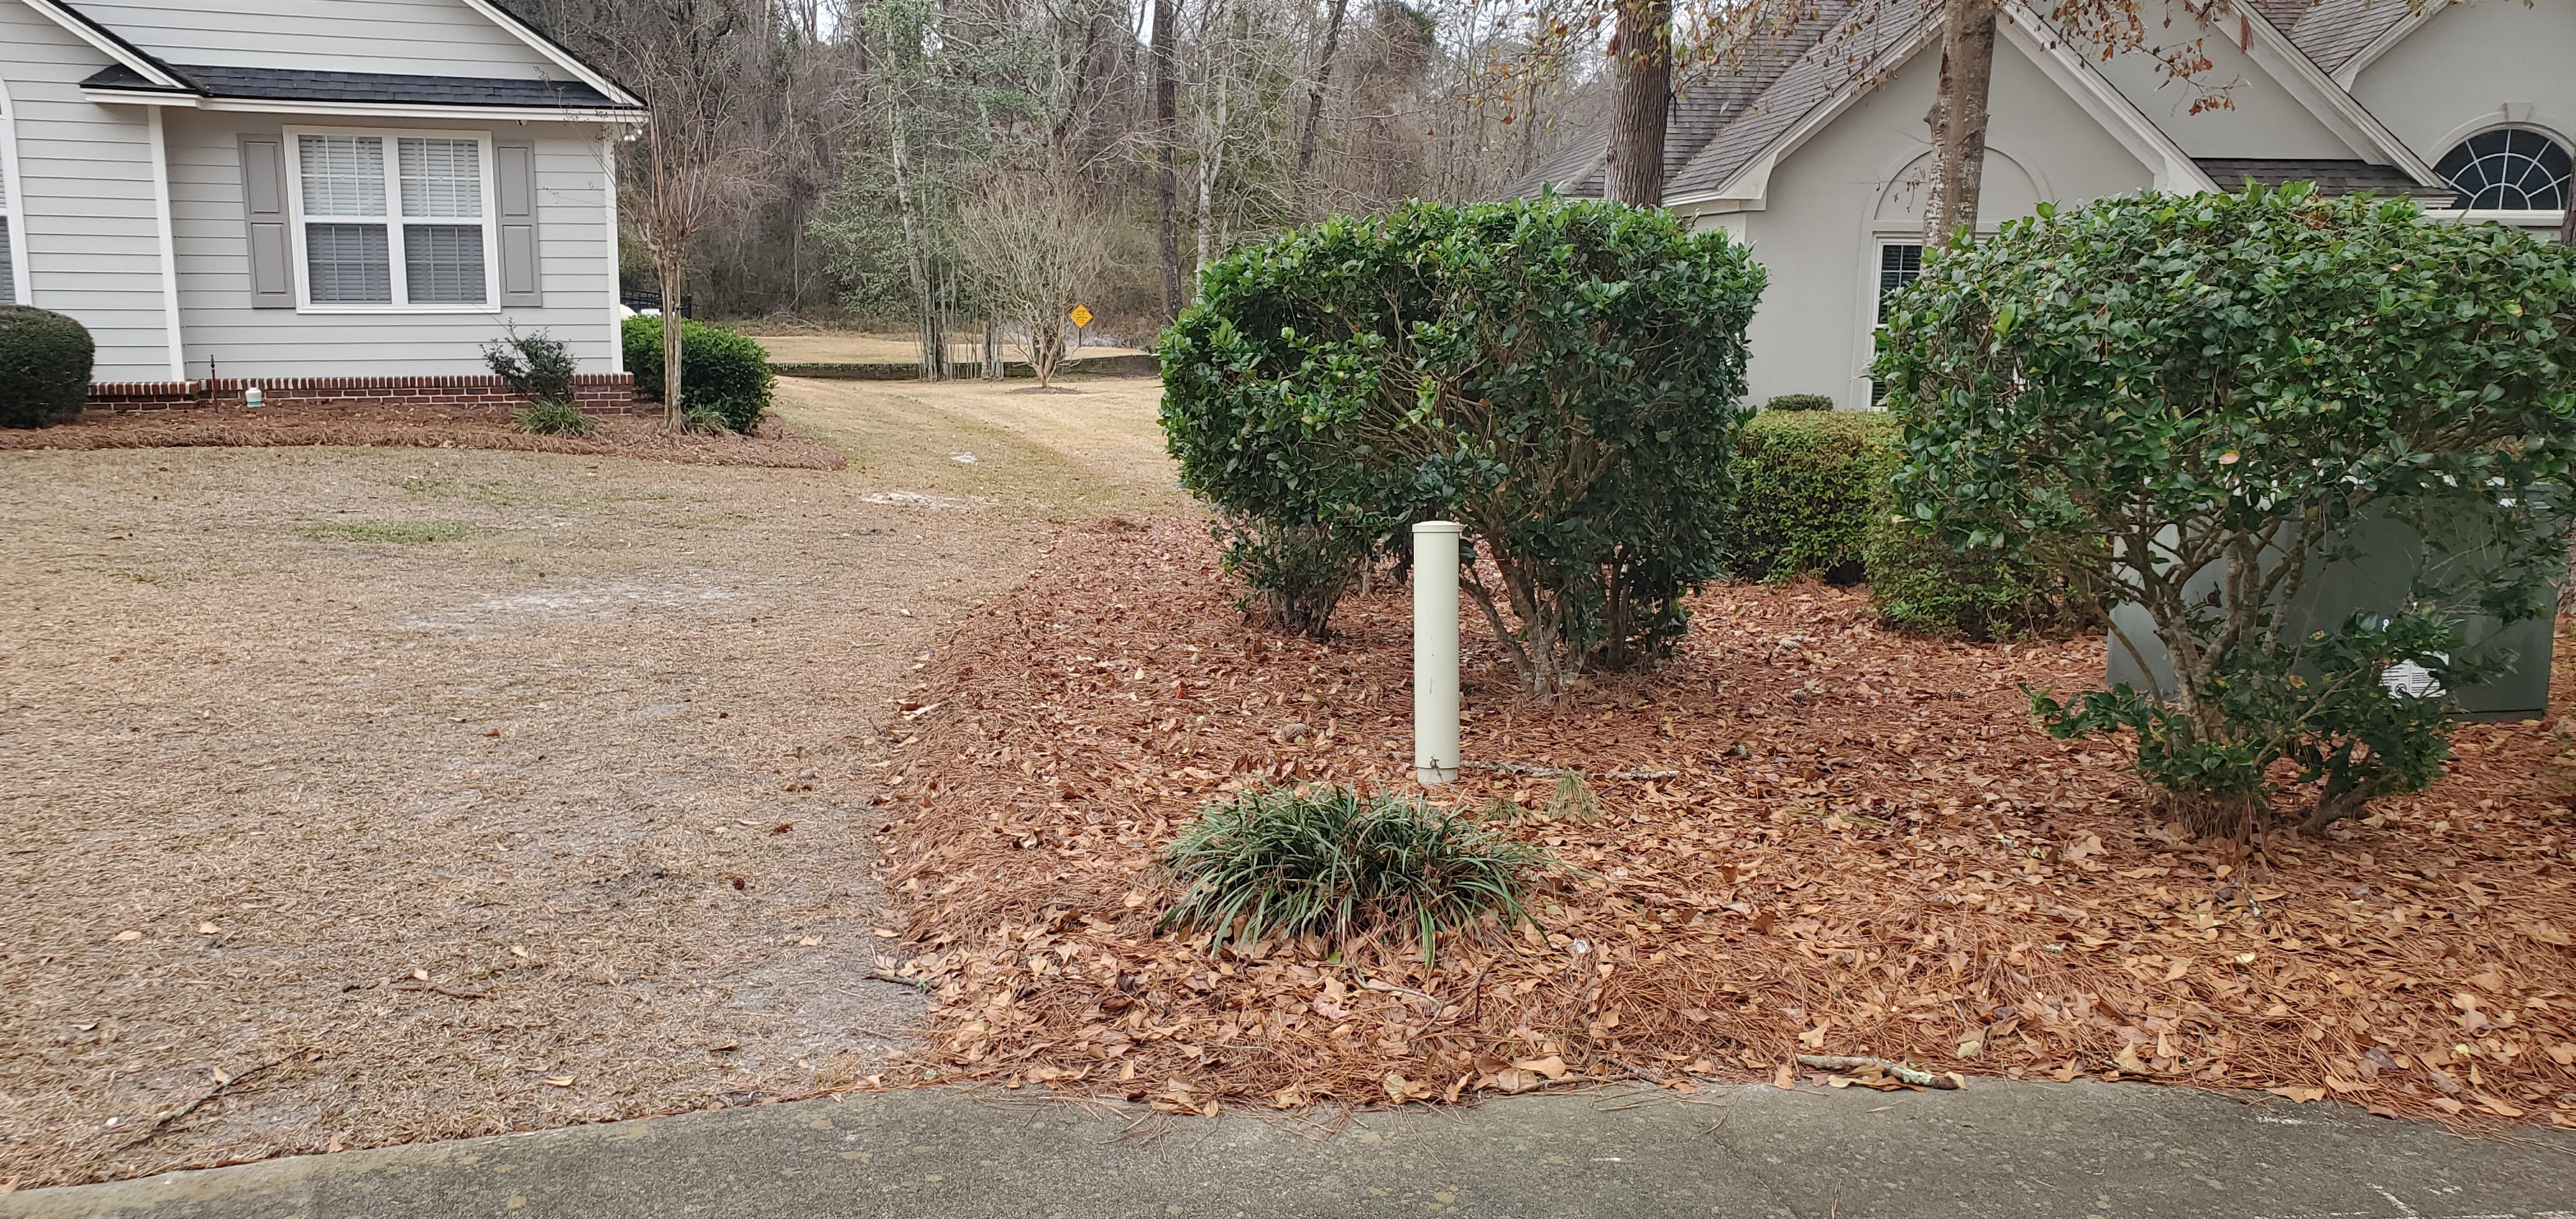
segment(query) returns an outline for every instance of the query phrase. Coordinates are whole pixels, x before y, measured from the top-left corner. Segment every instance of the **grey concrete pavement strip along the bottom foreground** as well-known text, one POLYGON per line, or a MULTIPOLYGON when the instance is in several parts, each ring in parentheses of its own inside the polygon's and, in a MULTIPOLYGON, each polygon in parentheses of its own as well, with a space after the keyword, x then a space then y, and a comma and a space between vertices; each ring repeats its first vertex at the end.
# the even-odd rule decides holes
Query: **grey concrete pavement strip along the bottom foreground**
POLYGON ((1605 1090, 1293 1118, 909 1090, 0 1198, 0 1216, 2568 1216, 2576 1139, 2141 1085, 1605 1090))

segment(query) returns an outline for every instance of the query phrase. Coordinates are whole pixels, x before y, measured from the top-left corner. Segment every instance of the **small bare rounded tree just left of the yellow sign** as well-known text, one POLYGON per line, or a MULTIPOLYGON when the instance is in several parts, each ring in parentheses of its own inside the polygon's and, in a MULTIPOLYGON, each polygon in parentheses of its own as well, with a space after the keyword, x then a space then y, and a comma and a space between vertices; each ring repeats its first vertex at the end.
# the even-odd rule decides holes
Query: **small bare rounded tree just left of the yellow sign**
POLYGON ((1064 361, 1066 314, 1100 278, 1100 224, 1066 183, 1012 175, 958 211, 958 250, 997 317, 1028 335, 1028 366, 1051 389, 1064 361))

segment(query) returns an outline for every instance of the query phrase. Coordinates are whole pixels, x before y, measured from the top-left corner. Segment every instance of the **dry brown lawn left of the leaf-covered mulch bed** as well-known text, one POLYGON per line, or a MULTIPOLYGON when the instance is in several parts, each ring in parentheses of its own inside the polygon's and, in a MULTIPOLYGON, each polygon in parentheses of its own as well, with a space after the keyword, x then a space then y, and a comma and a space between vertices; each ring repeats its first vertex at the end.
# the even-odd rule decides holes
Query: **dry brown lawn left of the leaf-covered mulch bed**
POLYGON ((1151 381, 940 389, 788 381, 840 472, 0 454, 0 1185, 873 1072, 889 696, 1175 495, 1151 381))

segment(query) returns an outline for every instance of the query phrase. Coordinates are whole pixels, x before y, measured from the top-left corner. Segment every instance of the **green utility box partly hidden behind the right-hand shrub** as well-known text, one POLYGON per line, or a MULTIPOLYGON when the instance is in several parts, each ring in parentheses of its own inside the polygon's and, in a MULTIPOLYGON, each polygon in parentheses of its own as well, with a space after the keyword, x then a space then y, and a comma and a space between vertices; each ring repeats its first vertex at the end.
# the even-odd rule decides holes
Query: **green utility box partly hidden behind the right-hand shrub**
MULTIPOLYGON (((2396 510, 2388 505, 2375 505, 2352 523, 2349 528, 2349 557, 2326 562, 2316 575, 2311 575, 2298 590, 2298 600, 2290 606, 2287 629, 2295 634, 2308 634, 2316 629, 2336 626, 2349 621, 2354 613, 2396 613, 2409 600, 2414 600, 2416 588, 2427 582, 2445 582, 2447 575, 2463 570, 2476 570, 2476 564, 2501 562, 2496 552, 2483 549, 2476 536, 2463 536, 2476 526, 2478 513, 2439 513, 2439 510, 2396 510), (2427 533, 2434 533, 2427 541, 2427 533)), ((2548 564, 2550 588, 2566 582, 2566 554, 2540 559, 2548 564)), ((2197 600, 2218 590, 2221 572, 2213 564, 2200 572, 2184 595, 2197 600)), ((2166 660, 2164 644, 2156 639, 2156 626, 2146 616, 2143 606, 2120 606, 2110 613, 2117 634, 2110 639, 2110 683, 2146 688, 2148 680, 2156 683, 2161 698, 2174 696, 2174 667, 2166 660), (2130 655, 2136 644, 2138 655, 2130 655), (2138 660, 2146 660, 2141 670, 2138 660)), ((2540 719, 2550 709, 2550 652, 2555 647, 2555 613, 2543 613, 2524 621, 2496 621, 2496 619, 2470 619, 2465 637, 2470 647, 2501 647, 2512 652, 2512 665, 2504 675, 2486 686, 2468 686, 2452 691, 2460 698, 2460 711, 2465 719, 2540 719)), ((2421 670, 2419 670, 2421 673, 2421 670)), ((2391 673, 2393 680, 2403 680, 2391 673)))

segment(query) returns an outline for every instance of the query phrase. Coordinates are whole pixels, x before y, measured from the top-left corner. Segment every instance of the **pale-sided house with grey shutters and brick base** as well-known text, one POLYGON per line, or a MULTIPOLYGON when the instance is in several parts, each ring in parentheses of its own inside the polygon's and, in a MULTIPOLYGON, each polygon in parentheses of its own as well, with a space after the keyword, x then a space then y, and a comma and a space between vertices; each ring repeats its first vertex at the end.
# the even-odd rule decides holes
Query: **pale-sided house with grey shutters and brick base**
POLYGON ((613 374, 639 113, 484 0, 0 0, 0 299, 98 381, 613 374))

